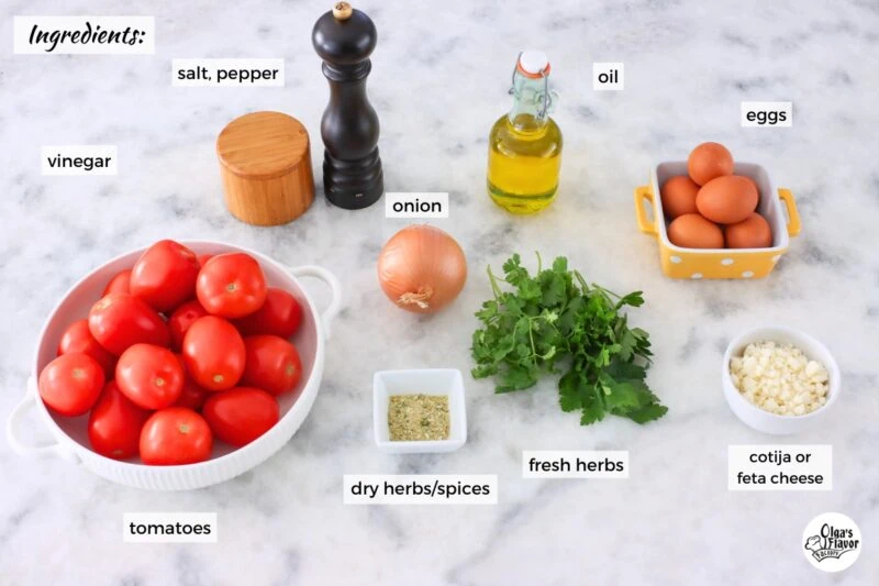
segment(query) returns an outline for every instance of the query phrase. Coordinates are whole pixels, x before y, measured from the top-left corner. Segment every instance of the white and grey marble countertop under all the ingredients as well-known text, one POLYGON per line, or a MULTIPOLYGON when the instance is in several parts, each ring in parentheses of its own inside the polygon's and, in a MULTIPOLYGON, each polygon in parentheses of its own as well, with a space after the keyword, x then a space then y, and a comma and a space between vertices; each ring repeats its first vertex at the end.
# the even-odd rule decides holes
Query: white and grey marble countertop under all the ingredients
MULTIPOLYGON (((11 0, 0 9, 0 267, 7 308, 0 416, 24 392, 47 312, 81 275, 162 237, 211 239, 337 274, 346 309, 326 349, 314 408, 278 454, 211 488, 116 486, 0 442, 0 584, 835 584, 879 583, 879 4, 565 0, 378 2, 369 96, 381 118, 386 188, 448 191, 435 223, 464 246, 470 278, 445 312, 416 318, 378 288, 375 262, 405 221, 382 206, 323 198, 298 221, 259 229, 225 210, 214 140, 236 115, 281 110, 308 128, 320 169, 327 98, 311 47, 330 2, 11 0), (418 4, 418 10, 414 10, 418 4), (552 8, 549 8, 552 4, 552 8), (154 56, 13 56, 14 14, 155 14, 154 56), (485 192, 487 134, 509 107, 516 53, 541 47, 561 96, 558 200, 516 218, 485 192), (173 88, 175 57, 283 57, 285 88, 173 88), (625 90, 596 92, 592 62, 624 62, 625 90), (791 129, 742 129, 743 100, 792 100, 791 129), (666 278, 638 233, 632 189, 652 163, 705 140, 760 162, 793 190, 803 234, 768 278, 666 278), (44 144, 116 144, 116 177, 43 177, 44 144), (872 146, 870 146, 872 145, 872 146), (393 456, 372 444, 371 375, 471 363, 487 264, 512 252, 567 255, 611 289, 643 289, 632 321, 650 332, 649 383, 669 407, 648 427, 581 428, 555 385, 496 396, 466 377, 470 435, 447 455, 393 456), (771 443, 744 427, 720 388, 728 340, 767 321, 824 341, 844 376, 825 425, 792 443, 834 447, 830 493, 730 493, 731 443, 771 443), (522 450, 621 449, 627 480, 525 480, 522 450), (497 506, 352 507, 343 474, 497 474, 497 506), (123 544, 126 511, 216 511, 216 544, 123 544), (836 576, 800 553, 805 523, 838 510, 866 551, 836 576)), ((320 184, 320 173, 315 179, 320 184)), ((319 185, 320 189, 320 185, 319 185)), ((323 291, 312 289, 318 299, 323 291)), ((325 297, 324 297, 325 298, 325 297)), ((36 420, 35 420, 36 421, 36 420)), ((5 422, 2 423, 5 425, 5 422)))

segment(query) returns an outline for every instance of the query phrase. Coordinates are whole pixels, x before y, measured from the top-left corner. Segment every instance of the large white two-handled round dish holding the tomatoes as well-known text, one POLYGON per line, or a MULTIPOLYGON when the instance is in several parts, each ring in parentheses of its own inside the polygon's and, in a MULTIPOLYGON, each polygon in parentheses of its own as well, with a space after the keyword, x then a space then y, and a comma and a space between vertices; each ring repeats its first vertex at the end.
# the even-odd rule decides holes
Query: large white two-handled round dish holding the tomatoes
POLYGON ((136 488, 153 490, 187 490, 222 483, 262 463, 287 443, 302 424, 311 410, 321 384, 324 362, 324 341, 330 333, 330 322, 342 307, 342 286, 329 270, 319 266, 288 268, 271 258, 240 246, 209 241, 183 242, 197 254, 221 254, 245 252, 263 267, 271 287, 282 288, 302 306, 302 325, 292 341, 302 360, 302 379, 293 391, 278 397, 281 418, 278 423, 258 440, 234 450, 218 445, 211 460, 181 466, 146 466, 133 462, 120 462, 104 457, 89 449, 88 416, 67 418, 51 413, 36 388, 42 368, 54 357, 58 340, 64 330, 75 320, 88 316, 91 306, 100 298, 110 278, 125 268, 131 268, 143 253, 142 250, 125 253, 92 270, 80 279, 52 310, 40 334, 34 356, 33 371, 27 379, 27 391, 12 410, 7 425, 7 436, 12 449, 25 456, 60 456, 80 464, 109 480, 136 488), (323 313, 319 313, 305 289, 297 277, 316 277, 332 289, 332 299, 323 313), (52 432, 54 443, 30 445, 21 440, 24 414, 35 407, 52 432))

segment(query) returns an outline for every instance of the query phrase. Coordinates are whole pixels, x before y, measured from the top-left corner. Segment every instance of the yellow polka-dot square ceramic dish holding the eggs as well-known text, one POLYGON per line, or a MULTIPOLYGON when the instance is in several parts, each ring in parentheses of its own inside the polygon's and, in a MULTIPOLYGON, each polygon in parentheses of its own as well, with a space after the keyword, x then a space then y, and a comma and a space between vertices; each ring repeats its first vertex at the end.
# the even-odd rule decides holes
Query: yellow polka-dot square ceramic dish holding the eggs
POLYGON ((676 279, 748 279, 765 277, 772 272, 781 256, 788 252, 790 237, 800 233, 800 214, 789 189, 776 189, 769 174, 760 165, 736 163, 736 175, 754 179, 760 191, 757 211, 772 229, 772 246, 769 248, 681 248, 671 244, 663 215, 659 186, 675 175, 687 175, 686 161, 670 161, 656 165, 650 172, 650 185, 635 189, 635 217, 645 234, 656 236, 659 242, 659 261, 663 272, 676 279), (648 217, 645 200, 653 209, 648 217), (787 209, 787 217, 782 210, 787 209))

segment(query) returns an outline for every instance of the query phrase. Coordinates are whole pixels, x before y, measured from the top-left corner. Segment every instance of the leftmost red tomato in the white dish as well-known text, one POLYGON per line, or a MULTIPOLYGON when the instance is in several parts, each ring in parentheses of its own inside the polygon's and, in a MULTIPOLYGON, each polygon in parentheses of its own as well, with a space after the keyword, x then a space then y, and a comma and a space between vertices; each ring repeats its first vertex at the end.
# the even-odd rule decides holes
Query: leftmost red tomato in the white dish
POLYGON ((103 368, 98 361, 71 352, 62 354, 40 373, 40 397, 58 414, 76 417, 86 413, 103 388, 103 368))

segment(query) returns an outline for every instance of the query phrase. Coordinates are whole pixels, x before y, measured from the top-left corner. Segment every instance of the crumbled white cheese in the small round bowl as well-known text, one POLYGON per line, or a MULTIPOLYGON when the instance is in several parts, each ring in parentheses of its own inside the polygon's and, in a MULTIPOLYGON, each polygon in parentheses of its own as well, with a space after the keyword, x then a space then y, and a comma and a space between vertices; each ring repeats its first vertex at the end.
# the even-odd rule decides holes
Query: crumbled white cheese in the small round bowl
POLYGON ((827 368, 792 344, 748 344, 730 361, 730 375, 747 401, 770 413, 802 416, 827 402, 827 368))

